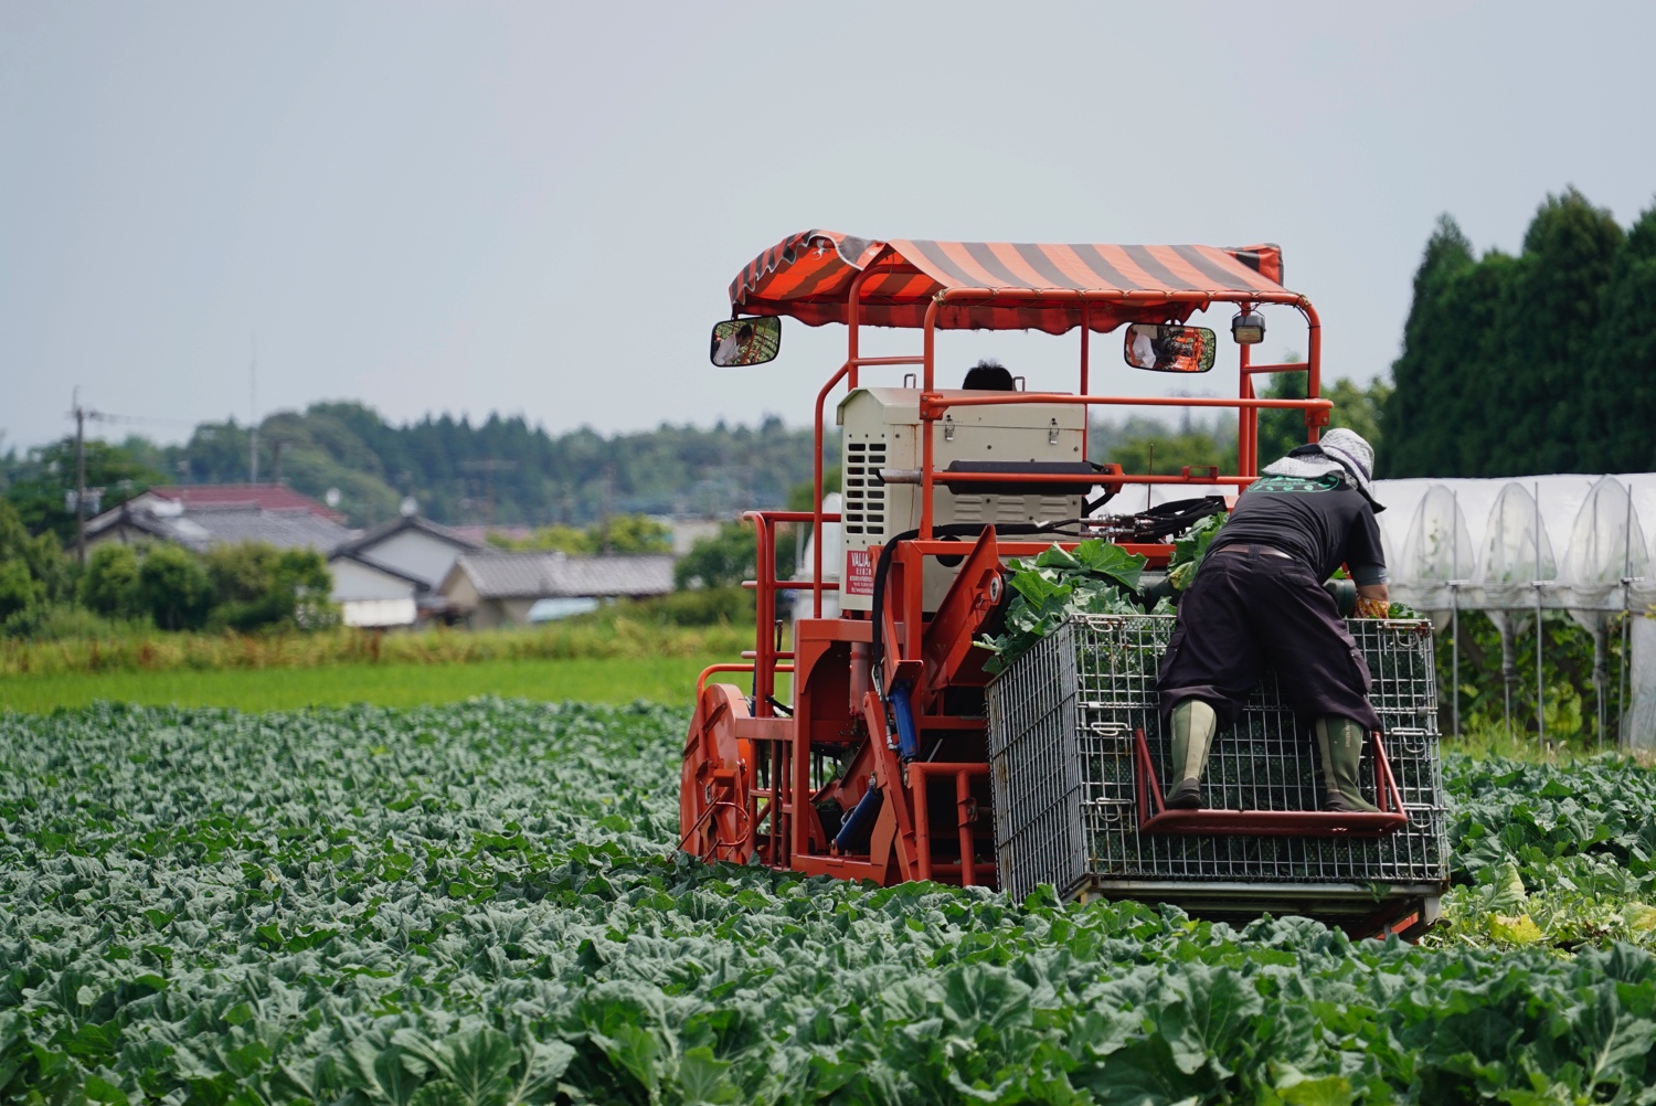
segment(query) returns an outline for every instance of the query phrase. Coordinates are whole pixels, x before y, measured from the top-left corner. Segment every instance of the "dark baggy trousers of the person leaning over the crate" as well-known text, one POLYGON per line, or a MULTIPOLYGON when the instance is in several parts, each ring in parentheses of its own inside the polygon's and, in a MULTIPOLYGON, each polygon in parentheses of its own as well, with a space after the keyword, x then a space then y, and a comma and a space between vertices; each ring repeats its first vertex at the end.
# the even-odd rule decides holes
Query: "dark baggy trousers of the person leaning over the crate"
POLYGON ((1312 570, 1285 556, 1214 551, 1179 601, 1161 662, 1163 732, 1186 699, 1209 704, 1229 729, 1267 666, 1302 729, 1330 714, 1379 729, 1368 664, 1312 570))

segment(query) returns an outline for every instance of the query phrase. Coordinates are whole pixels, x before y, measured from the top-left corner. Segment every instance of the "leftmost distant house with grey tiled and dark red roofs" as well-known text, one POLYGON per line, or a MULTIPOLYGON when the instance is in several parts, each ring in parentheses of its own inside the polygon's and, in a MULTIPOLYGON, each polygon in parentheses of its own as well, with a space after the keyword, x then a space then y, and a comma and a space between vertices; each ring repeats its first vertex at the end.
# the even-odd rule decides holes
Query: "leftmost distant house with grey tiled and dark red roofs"
POLYGON ((172 541, 202 553, 215 545, 263 541, 278 550, 326 553, 354 536, 344 515, 280 483, 159 487, 86 522, 86 546, 172 541))

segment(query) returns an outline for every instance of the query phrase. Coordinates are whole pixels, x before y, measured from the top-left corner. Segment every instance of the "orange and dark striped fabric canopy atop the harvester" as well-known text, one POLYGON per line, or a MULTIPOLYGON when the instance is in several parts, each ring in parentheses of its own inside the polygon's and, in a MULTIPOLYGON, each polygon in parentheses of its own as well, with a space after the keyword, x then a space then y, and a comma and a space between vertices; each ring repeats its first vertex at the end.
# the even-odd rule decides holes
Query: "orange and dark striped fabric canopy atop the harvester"
POLYGON ((859 320, 871 326, 924 326, 926 308, 942 290, 964 293, 939 308, 942 329, 1050 334, 1081 323, 1076 293, 1091 298, 1086 310, 1095 331, 1111 331, 1121 323, 1182 321, 1204 306, 1191 293, 1216 300, 1293 295, 1280 283, 1282 250, 1275 245, 876 242, 835 230, 803 230, 755 257, 730 281, 732 313, 787 315, 810 326, 846 323, 851 281, 864 270, 859 320), (972 296, 974 290, 984 295, 972 296), (994 295, 1007 290, 1018 295, 994 295))

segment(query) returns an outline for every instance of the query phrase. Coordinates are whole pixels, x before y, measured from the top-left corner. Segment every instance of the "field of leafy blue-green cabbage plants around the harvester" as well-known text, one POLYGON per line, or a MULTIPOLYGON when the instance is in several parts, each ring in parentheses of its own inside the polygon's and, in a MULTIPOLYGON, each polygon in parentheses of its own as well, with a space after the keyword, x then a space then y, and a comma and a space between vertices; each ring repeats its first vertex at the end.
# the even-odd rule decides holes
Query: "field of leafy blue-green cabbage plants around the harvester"
POLYGON ((0 1099, 1656 1103, 1656 780, 1451 760, 1424 945, 674 856, 684 717, 0 714, 0 1099))

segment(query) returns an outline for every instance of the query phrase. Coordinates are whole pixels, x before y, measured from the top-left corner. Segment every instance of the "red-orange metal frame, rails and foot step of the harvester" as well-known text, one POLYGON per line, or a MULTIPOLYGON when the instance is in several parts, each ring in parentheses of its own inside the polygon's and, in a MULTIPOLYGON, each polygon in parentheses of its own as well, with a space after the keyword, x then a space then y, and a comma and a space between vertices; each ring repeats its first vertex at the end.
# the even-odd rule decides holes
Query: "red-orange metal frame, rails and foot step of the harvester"
MULTIPOLYGON (((964 647, 985 618, 997 608, 1000 576, 994 565, 1005 556, 1033 556, 1050 541, 997 540, 987 530, 972 556, 960 570, 956 586, 939 611, 927 619, 922 609, 921 571, 926 558, 960 556, 965 548, 959 541, 932 540, 932 495, 937 485, 972 483, 1106 483, 1119 490, 1126 485, 1222 485, 1240 488, 1257 474, 1259 412, 1262 409, 1302 411, 1307 439, 1317 440, 1318 427, 1326 424, 1330 402, 1321 399, 1321 325, 1308 300, 1295 293, 1071 293, 1080 305, 1080 392, 1018 392, 994 396, 944 396, 936 387, 936 329, 937 313, 946 301, 970 301, 974 298, 1042 298, 1057 300, 1063 293, 1030 290, 959 290, 937 295, 927 306, 922 326, 919 356, 864 358, 861 354, 861 296, 863 283, 876 265, 869 263, 853 281, 848 293, 846 359, 816 394, 815 404, 815 457, 813 485, 815 507, 810 512, 747 512, 757 536, 758 571, 745 586, 755 591, 757 639, 744 652, 744 664, 710 666, 697 680, 697 704, 714 692, 707 677, 715 672, 752 672, 752 699, 732 697, 735 689, 712 695, 717 702, 720 729, 719 748, 739 750, 739 765, 709 765, 702 777, 705 806, 687 805, 681 815, 684 838, 705 839, 700 826, 709 821, 720 826, 712 834, 720 856, 739 859, 755 858, 760 863, 806 874, 831 874, 873 879, 889 884, 899 879, 937 879, 954 884, 979 884, 995 881, 994 864, 987 868, 980 856, 994 853, 989 820, 980 811, 989 808, 989 763, 985 748, 985 724, 980 714, 964 705, 959 694, 982 687, 982 651, 964 647), (1214 397, 1121 397, 1090 394, 1091 377, 1091 305, 1101 301, 1131 303, 1156 300, 1189 305, 1194 310, 1214 303, 1230 303, 1237 310, 1252 310, 1264 303, 1293 306, 1308 325, 1308 356, 1303 364, 1252 364, 1250 348, 1239 351, 1239 392, 1234 399, 1214 397), (823 545, 813 543, 810 579, 778 579, 775 573, 777 536, 780 527, 810 525, 821 533, 825 523, 838 522, 835 513, 823 512, 823 442, 826 437, 826 406, 830 396, 845 384, 861 386, 864 368, 919 366, 921 404, 924 424, 921 482, 919 538, 899 541, 891 553, 886 576, 886 601, 883 603, 881 641, 886 642, 881 671, 869 671, 869 644, 876 626, 868 614, 848 611, 838 618, 823 618, 825 594, 840 584, 826 579, 823 571, 823 545), (1254 392, 1254 376, 1265 373, 1305 373, 1305 399, 1262 399, 1254 392), (954 407, 992 404, 1080 404, 1143 406, 1143 407, 1216 407, 1237 412, 1237 475, 1220 477, 1211 472, 1181 474, 1101 474, 1058 477, 1032 474, 949 474, 934 465, 936 422, 954 407), (795 621, 795 641, 788 647, 778 639, 778 594, 792 591, 810 593, 810 618, 795 621), (793 715, 778 717, 772 705, 777 676, 793 674, 793 715), (914 727, 921 742, 921 755, 906 762, 898 755, 896 737, 888 717, 888 695, 896 684, 909 684, 914 709, 914 727), (838 753, 841 770, 823 780, 813 773, 813 757, 838 753), (763 767, 765 786, 760 786, 763 767), (871 783, 873 781, 873 783, 871 783), (878 786, 883 805, 874 818, 866 846, 851 843, 846 854, 831 843, 828 826, 818 813, 818 803, 838 803, 843 815, 864 796, 869 786, 878 786), (720 813, 724 795, 745 790, 740 800, 742 813, 720 813), (949 796, 947 800, 944 796, 949 796), (954 816, 944 810, 954 805, 954 816), (699 813, 692 816, 691 810, 699 813), (951 825, 952 823, 952 825, 951 825), (727 841, 725 836, 734 839, 727 841), (866 851, 864 851, 866 849, 866 851)), ((1085 430, 1083 430, 1085 442, 1085 430)), ((1085 449, 1085 447, 1083 447, 1085 449)), ((1085 454, 1083 454, 1085 455, 1085 454)), ((1143 553, 1153 566, 1164 565, 1171 546, 1128 546, 1143 553)), ((700 717, 700 705, 699 705, 700 717)), ((692 755, 705 755, 705 747, 692 740, 686 747, 687 773, 692 755), (700 748, 702 752, 697 752, 700 748)), ((714 742, 714 743, 717 743, 714 742)), ((1161 786, 1149 768, 1143 737, 1138 743, 1139 806, 1148 815, 1144 830, 1151 833, 1383 833, 1404 820, 1396 783, 1384 750, 1376 740, 1376 772, 1383 780, 1379 815, 1350 816, 1323 811, 1167 811, 1161 805, 1161 786), (1196 815, 1194 818, 1191 815, 1196 815)), ((689 777, 687 777, 689 778, 689 777)))

